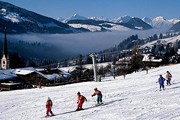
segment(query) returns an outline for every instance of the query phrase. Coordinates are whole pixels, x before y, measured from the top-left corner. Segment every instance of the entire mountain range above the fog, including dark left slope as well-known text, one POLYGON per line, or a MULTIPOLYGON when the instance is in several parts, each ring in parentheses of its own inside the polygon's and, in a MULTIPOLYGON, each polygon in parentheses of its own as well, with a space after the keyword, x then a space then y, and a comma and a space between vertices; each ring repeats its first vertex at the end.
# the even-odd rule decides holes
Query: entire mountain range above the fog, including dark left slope
POLYGON ((179 19, 166 20, 162 16, 150 19, 122 16, 108 19, 105 17, 84 17, 78 14, 62 19, 53 19, 38 13, 0 1, 0 32, 7 28, 10 34, 19 33, 81 33, 102 31, 148 30, 167 28, 179 31, 179 19))

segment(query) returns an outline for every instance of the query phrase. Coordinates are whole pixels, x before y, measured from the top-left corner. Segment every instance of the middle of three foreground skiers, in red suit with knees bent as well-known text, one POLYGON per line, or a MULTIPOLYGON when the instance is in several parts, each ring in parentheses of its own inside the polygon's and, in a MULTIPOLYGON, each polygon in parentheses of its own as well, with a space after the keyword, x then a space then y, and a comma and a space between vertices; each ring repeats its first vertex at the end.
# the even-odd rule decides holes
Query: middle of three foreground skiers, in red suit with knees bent
POLYGON ((87 99, 86 99, 86 97, 81 95, 80 92, 77 93, 77 96, 78 96, 78 101, 77 101, 78 106, 77 106, 76 111, 83 110, 82 105, 83 105, 84 101, 87 101, 87 99))

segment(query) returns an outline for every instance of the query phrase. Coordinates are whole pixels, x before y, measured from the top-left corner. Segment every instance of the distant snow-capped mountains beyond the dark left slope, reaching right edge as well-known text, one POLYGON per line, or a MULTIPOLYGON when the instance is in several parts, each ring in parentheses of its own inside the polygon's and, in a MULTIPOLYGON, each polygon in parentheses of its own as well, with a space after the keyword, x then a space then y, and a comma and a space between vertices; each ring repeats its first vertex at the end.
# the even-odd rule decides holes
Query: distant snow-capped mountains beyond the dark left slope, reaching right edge
MULTIPOLYGON (((68 25, 75 28, 85 28, 90 31, 127 31, 129 29, 135 30, 148 30, 151 28, 157 29, 170 29, 173 30, 172 26, 178 26, 176 23, 180 22, 180 19, 165 19, 162 16, 150 19, 148 17, 138 18, 131 16, 122 16, 118 18, 108 19, 104 17, 83 17, 78 14, 73 15, 67 19, 61 19, 61 22, 67 23, 68 25)), ((175 27, 177 28, 177 27, 175 27)), ((174 30, 179 31, 179 30, 174 30)))

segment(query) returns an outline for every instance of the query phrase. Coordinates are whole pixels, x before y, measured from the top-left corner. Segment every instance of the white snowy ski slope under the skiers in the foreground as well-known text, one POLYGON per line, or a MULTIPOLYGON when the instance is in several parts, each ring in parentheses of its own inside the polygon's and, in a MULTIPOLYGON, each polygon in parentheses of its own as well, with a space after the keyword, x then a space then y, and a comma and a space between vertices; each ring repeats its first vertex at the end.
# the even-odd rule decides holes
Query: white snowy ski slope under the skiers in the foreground
POLYGON ((0 120, 180 120, 180 64, 159 67, 102 82, 84 82, 42 89, 0 92, 0 120), (159 91, 157 79, 169 70, 171 86, 159 91), (93 107, 97 87, 103 93, 102 106, 93 107), (80 91, 85 110, 74 112, 80 91), (47 97, 53 100, 56 116, 44 118, 47 97))

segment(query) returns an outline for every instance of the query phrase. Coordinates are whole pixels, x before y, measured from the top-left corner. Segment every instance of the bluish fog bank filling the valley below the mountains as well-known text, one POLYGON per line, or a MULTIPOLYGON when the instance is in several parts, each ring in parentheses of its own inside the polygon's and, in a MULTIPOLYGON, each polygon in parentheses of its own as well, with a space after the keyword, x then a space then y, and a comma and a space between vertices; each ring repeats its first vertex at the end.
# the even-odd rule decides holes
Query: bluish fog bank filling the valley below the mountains
MULTIPOLYGON (((151 29, 144 31, 130 30, 124 32, 93 32, 76 34, 19 34, 7 35, 11 52, 18 52, 21 56, 36 58, 64 59, 78 54, 89 54, 114 47, 130 35, 138 34, 139 38, 146 38, 154 34, 165 33, 167 30, 151 29), (20 44, 19 41, 30 43, 20 44), (17 44, 18 43, 18 44, 17 44), (36 44, 35 44, 36 43, 36 44)), ((0 35, 1 50, 4 35, 0 35)))

